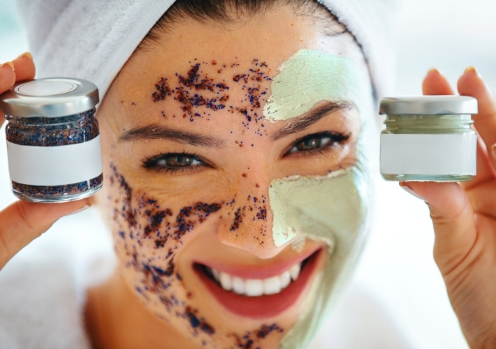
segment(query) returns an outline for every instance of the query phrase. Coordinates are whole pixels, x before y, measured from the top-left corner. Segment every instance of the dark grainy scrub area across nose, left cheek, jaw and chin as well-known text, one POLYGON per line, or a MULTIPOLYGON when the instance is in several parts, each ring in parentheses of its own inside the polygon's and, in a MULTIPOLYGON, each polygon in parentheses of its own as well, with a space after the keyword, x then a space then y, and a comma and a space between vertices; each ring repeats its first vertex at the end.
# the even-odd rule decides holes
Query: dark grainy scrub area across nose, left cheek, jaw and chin
MULTIPOLYGON (((168 208, 156 198, 131 188, 117 168, 112 166, 111 171, 108 200, 112 207, 115 249, 122 275, 136 297, 159 318, 173 323, 207 348, 216 343, 242 345, 242 348, 261 341, 277 343, 284 330, 276 324, 261 325, 243 334, 233 332, 233 324, 222 323, 220 328, 214 327, 191 306, 193 296, 178 272, 177 265, 181 263, 175 260, 194 231, 203 223, 216 219, 214 216, 225 221, 231 232, 252 221, 265 222, 265 197, 249 196, 241 207, 236 205, 236 200, 230 200, 168 208)), ((246 325, 234 327, 243 329, 246 325)))

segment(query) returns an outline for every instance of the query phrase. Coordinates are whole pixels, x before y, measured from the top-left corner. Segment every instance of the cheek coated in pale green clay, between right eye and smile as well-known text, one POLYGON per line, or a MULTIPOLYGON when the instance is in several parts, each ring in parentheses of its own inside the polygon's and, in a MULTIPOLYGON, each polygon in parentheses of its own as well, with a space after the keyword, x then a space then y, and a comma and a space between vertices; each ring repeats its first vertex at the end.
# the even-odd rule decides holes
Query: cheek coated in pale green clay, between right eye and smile
POLYGON ((331 247, 336 239, 353 241, 363 221, 363 200, 353 169, 321 177, 276 179, 269 197, 276 246, 297 235, 323 240, 331 247))

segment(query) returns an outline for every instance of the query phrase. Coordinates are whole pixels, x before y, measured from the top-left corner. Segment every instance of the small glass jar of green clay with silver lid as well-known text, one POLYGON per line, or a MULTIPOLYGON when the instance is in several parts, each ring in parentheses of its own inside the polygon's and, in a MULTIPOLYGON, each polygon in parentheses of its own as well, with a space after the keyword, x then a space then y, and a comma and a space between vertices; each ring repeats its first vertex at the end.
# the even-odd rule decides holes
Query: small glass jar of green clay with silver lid
POLYGON ((389 181, 469 181, 476 174, 477 100, 468 96, 383 98, 381 176, 389 181))

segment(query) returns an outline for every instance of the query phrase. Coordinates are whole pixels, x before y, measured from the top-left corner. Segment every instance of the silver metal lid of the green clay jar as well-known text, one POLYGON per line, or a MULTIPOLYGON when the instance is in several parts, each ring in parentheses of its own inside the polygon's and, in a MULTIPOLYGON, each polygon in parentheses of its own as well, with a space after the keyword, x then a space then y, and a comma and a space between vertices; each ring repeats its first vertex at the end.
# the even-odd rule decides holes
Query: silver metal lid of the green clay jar
POLYGON ((469 96, 388 97, 379 101, 381 115, 477 114, 477 100, 469 96))

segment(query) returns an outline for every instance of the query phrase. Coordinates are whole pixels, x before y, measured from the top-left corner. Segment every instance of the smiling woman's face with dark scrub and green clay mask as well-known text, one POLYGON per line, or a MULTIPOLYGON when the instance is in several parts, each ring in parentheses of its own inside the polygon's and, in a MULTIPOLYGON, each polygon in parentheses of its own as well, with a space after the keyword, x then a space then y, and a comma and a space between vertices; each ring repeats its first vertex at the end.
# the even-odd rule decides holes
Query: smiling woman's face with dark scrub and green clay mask
POLYGON ((363 235, 370 80, 351 35, 321 21, 177 22, 99 110, 119 271, 197 345, 276 348, 363 235))

